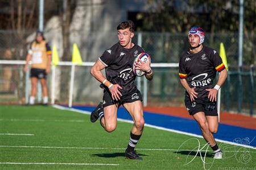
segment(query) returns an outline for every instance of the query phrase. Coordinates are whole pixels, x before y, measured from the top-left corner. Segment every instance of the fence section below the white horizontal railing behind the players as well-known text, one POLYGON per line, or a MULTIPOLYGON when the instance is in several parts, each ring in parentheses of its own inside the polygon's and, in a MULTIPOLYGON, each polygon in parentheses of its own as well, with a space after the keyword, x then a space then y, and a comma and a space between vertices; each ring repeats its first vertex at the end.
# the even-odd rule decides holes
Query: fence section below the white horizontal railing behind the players
MULTIPOLYGON (((10 61, 8 61, 10 62, 10 61)), ((24 61, 20 61, 24 62, 24 61)), ((49 98, 55 103, 70 104, 72 63, 62 62, 51 74, 48 74, 49 98), (53 73, 55 76, 52 77, 53 73), (54 83, 53 83, 54 82, 54 83), (54 93, 53 93, 54 91, 54 93)), ((0 98, 1 103, 26 103, 30 92, 28 74, 23 72, 23 64, 3 64, 0 60, 0 98), (27 92, 27 95, 26 95, 27 92)), ((102 100, 100 82, 90 75, 92 63, 76 66, 72 88, 73 105, 95 105, 102 100)), ((137 78, 144 105, 150 106, 184 106, 184 89, 177 76, 177 64, 152 64, 154 78, 137 78), (176 66, 175 66, 176 65, 176 66)), ((221 110, 255 115, 256 74, 254 68, 249 71, 229 71, 229 76, 222 87, 221 110)))

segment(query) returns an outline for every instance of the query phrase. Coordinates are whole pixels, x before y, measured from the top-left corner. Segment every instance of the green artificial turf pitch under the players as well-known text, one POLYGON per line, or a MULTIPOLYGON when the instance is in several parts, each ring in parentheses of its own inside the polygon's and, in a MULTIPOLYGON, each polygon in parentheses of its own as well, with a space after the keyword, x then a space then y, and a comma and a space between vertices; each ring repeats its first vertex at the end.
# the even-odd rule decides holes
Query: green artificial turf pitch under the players
POLYGON ((1 105, 0 111, 0 169, 256 169, 251 148, 218 143, 224 159, 214 160, 208 148, 204 163, 206 147, 196 155, 197 139, 200 148, 204 139, 151 127, 136 147, 143 160, 128 160, 131 123, 118 122, 108 133, 89 115, 51 106, 1 105))

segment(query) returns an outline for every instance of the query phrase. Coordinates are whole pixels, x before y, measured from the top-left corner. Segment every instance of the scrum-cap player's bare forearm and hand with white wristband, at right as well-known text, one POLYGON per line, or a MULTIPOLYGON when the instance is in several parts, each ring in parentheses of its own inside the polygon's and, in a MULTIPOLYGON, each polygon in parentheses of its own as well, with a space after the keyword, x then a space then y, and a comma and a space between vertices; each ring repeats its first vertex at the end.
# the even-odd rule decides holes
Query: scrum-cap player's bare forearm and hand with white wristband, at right
POLYGON ((226 71, 226 69, 224 69, 220 72, 220 76, 218 77, 218 82, 214 86, 214 88, 213 89, 205 89, 209 92, 208 98, 210 99, 210 101, 212 101, 212 102, 217 101, 218 89, 220 89, 220 87, 224 84, 226 77, 228 77, 228 72, 226 71))

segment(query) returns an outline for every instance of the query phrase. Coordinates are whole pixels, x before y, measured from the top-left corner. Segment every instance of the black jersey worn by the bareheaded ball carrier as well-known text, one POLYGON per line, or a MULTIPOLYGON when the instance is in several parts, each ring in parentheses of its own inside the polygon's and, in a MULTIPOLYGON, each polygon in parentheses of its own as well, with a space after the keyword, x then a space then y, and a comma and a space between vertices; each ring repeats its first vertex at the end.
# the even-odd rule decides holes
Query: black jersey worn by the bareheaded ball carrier
POLYGON ((127 49, 118 42, 99 57, 106 66, 106 78, 112 84, 119 84, 123 88, 119 89, 122 95, 137 88, 134 84, 136 76, 133 73, 133 62, 135 57, 142 52, 144 52, 143 48, 137 44, 134 44, 133 48, 127 49))

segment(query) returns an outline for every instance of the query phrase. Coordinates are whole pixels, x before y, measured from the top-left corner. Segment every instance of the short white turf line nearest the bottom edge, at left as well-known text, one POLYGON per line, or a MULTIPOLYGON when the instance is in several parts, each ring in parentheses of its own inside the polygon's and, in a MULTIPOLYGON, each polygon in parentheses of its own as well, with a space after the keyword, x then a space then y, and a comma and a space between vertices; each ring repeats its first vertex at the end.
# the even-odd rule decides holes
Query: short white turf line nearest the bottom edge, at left
POLYGON ((111 165, 117 166, 119 164, 86 164, 86 163, 0 163, 0 164, 23 164, 23 165, 111 165))

